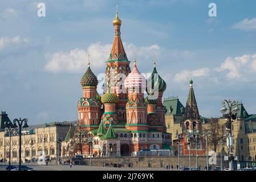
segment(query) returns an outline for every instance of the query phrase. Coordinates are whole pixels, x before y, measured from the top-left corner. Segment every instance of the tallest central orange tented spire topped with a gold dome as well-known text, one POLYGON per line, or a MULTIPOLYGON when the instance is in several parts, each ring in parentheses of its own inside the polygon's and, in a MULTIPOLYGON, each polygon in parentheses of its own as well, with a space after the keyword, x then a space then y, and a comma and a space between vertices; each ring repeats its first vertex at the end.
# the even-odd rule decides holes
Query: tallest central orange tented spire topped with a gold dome
POLYGON ((115 38, 108 61, 128 61, 120 36, 121 23, 122 21, 119 19, 118 13, 116 11, 116 18, 113 20, 113 26, 115 27, 115 38))

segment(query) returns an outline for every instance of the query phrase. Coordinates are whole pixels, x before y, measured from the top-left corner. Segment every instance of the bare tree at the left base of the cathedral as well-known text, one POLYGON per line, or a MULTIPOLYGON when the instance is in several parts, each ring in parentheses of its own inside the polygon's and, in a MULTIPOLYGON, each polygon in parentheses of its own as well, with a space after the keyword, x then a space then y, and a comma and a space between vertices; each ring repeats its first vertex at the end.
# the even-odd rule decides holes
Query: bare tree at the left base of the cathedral
POLYGON ((88 131, 83 130, 83 127, 78 124, 74 133, 74 152, 80 151, 80 154, 83 155, 83 146, 91 141, 92 137, 88 131))

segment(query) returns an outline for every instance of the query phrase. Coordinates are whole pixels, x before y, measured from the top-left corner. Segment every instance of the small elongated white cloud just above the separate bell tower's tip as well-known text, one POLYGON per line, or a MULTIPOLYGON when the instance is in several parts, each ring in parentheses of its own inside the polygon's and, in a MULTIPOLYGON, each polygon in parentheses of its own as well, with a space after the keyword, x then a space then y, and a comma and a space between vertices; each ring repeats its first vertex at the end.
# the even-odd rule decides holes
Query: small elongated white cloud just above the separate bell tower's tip
POLYGON ((207 77, 210 74, 209 68, 201 68, 193 71, 184 70, 174 76, 174 81, 188 81, 190 77, 207 77))

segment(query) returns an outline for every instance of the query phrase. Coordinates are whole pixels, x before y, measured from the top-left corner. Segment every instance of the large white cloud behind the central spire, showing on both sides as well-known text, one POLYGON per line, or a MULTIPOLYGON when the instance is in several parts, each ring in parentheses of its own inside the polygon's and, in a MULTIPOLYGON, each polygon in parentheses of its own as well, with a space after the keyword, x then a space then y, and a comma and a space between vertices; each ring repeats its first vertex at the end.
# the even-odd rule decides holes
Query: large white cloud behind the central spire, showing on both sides
MULTIPOLYGON (((158 45, 152 45, 148 47, 138 47, 134 44, 124 43, 124 49, 127 53, 128 59, 133 58, 133 52, 136 51, 136 59, 147 59, 151 56, 153 59, 153 53, 159 51, 158 45)), ((75 48, 71 51, 63 52, 59 51, 53 53, 49 57, 49 61, 44 67, 50 72, 84 72, 87 68, 87 55, 91 55, 91 67, 95 69, 103 68, 105 61, 108 59, 111 52, 112 44, 93 43, 87 49, 75 48)), ((130 59, 131 60, 131 59, 130 59)), ((143 60, 141 63, 143 63, 143 60)), ((140 63, 139 63, 140 64, 140 63)), ((104 69, 101 69, 104 71, 104 69)))

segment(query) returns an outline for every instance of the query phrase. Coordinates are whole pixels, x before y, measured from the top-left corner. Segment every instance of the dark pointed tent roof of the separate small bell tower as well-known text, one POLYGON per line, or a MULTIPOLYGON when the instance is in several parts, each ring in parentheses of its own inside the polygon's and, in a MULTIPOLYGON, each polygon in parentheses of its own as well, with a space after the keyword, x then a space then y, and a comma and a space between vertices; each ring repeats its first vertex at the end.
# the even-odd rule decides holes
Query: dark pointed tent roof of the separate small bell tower
POLYGON ((190 84, 190 88, 189 88, 188 100, 186 101, 184 120, 186 120, 186 119, 190 119, 190 121, 200 120, 200 115, 199 115, 198 108, 197 108, 196 97, 194 96, 192 78, 190 78, 189 84, 190 84))

